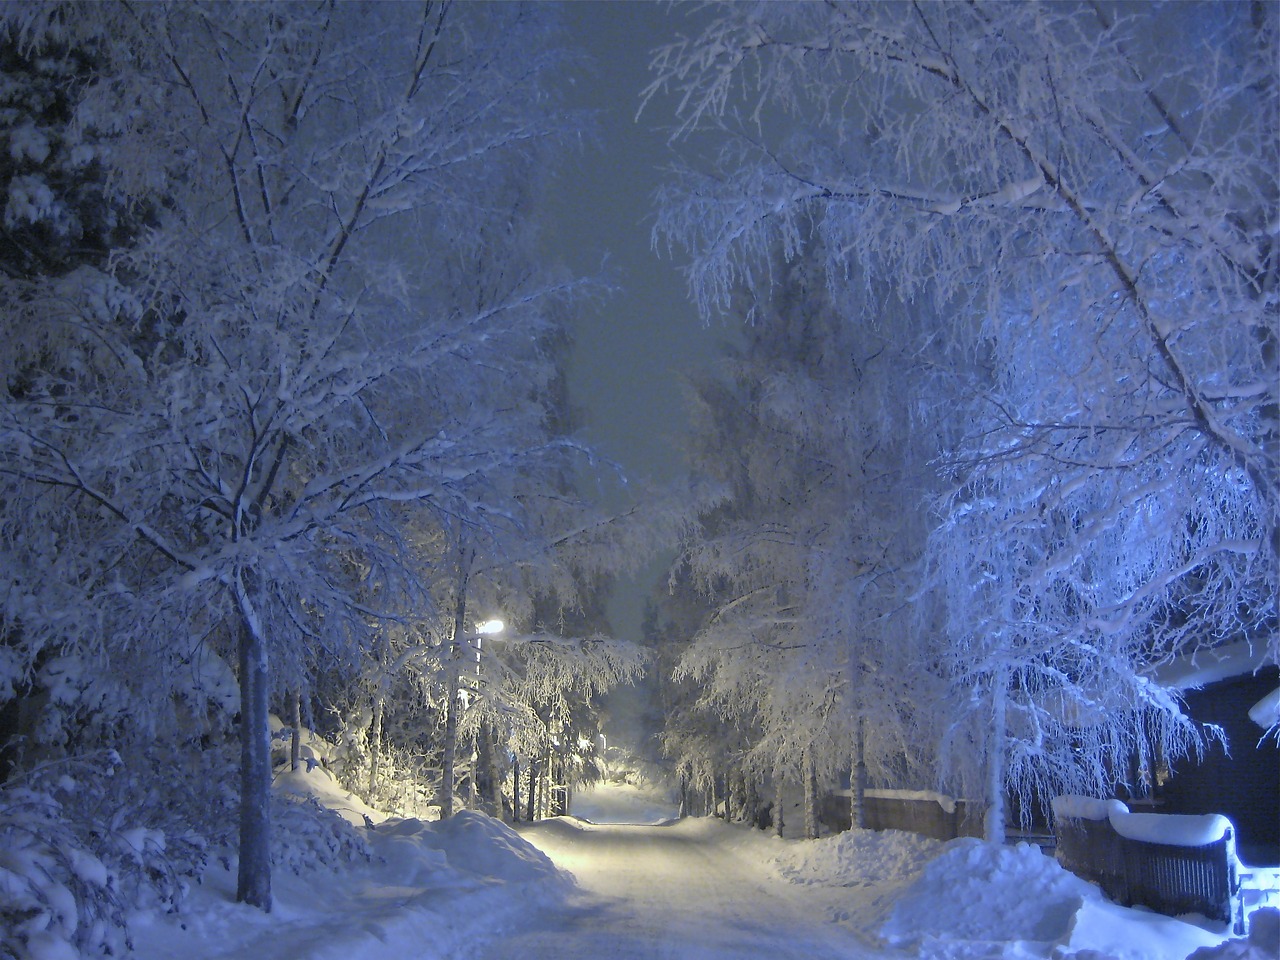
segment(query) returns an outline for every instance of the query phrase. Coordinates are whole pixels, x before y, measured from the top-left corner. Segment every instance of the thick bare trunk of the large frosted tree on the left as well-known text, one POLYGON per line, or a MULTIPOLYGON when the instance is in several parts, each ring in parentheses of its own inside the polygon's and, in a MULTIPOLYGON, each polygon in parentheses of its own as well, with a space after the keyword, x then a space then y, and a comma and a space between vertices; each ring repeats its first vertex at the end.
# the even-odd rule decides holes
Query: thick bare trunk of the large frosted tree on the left
POLYGON ((241 805, 236 900, 271 910, 271 727, 268 714, 266 641, 241 580, 241 805))

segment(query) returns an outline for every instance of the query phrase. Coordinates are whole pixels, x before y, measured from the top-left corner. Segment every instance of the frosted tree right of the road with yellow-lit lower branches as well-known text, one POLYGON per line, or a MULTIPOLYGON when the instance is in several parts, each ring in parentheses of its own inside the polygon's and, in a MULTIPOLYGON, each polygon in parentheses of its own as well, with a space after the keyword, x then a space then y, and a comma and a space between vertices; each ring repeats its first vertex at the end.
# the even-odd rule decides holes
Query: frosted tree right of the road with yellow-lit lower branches
MULTIPOLYGON (((931 673, 911 658, 908 594, 936 448, 920 398, 900 393, 923 344, 887 298, 837 308, 815 260, 771 265, 742 356, 696 390, 692 467, 726 498, 682 559, 709 616, 677 676, 736 724, 733 765, 755 778, 831 782, 859 763, 924 778, 931 673), (867 303, 883 316, 846 316, 867 303)), ((692 742, 698 713, 673 718, 671 744, 692 742)))

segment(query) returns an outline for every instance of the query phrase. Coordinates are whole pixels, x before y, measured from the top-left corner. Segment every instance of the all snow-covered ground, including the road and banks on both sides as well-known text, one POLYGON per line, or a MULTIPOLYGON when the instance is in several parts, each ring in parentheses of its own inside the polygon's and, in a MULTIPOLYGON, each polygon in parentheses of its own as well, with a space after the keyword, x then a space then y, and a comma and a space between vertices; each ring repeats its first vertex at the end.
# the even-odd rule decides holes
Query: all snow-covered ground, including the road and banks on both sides
MULTIPOLYGON (((384 819, 316 771, 278 786, 319 795, 367 829, 374 861, 275 876, 275 910, 237 905, 234 861, 178 916, 133 920, 141 960, 1275 960, 1256 942, 1108 904, 1033 846, 896 831, 778 840, 712 819, 657 826, 649 788, 585 791, 573 818, 477 813, 384 819), (612 820, 605 823, 605 820, 612 820), (576 878, 573 886, 568 874, 576 878)), ((360 829, 366 829, 360 827, 360 829)), ((1194 919, 1194 918, 1192 918, 1194 919)))

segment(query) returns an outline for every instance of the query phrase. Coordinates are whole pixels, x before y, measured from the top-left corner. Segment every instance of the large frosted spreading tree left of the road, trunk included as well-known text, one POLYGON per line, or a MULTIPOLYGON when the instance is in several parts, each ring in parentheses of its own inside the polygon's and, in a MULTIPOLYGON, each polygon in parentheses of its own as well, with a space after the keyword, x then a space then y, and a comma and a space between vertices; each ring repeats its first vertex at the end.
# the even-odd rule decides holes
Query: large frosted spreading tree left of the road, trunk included
POLYGON ((520 5, 63 9, 13 29, 106 38, 74 123, 156 221, 0 289, 41 361, 0 412, 5 676, 68 650, 165 703, 234 652, 238 896, 269 908, 270 698, 429 604, 421 509, 500 524, 494 492, 566 454, 530 396, 573 285, 527 269, 512 189, 568 132, 558 55, 520 5))

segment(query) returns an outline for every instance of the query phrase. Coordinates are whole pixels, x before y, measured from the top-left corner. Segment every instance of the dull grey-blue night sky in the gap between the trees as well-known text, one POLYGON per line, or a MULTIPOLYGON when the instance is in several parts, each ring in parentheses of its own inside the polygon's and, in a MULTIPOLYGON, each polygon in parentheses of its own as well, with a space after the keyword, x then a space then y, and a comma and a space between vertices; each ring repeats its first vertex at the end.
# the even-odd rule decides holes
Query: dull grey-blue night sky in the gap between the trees
MULTIPOLYGON (((678 262, 650 247, 653 191, 673 156, 662 128, 672 111, 658 101, 637 120, 636 110, 650 51, 690 32, 690 20, 667 4, 630 0, 580 0, 562 15, 590 59, 566 78, 563 93, 568 106, 596 113, 599 146, 584 146, 548 178, 545 252, 579 275, 603 265, 616 285, 612 297, 575 311, 571 401, 582 439, 628 481, 664 483, 685 466, 684 374, 712 362, 732 338, 731 328, 699 320, 678 262)), ((618 502, 617 489, 604 493, 618 502)), ((609 616, 622 639, 640 639, 644 596, 668 561, 620 584, 609 616)))

